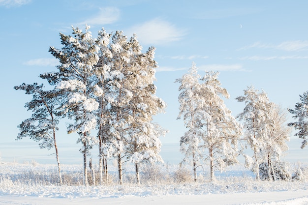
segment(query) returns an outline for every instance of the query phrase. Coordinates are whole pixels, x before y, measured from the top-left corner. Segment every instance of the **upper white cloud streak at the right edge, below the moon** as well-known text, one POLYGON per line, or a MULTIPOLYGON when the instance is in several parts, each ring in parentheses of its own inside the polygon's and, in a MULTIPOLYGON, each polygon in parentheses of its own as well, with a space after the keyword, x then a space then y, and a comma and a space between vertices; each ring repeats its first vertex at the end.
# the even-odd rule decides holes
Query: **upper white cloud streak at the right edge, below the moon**
POLYGON ((251 48, 277 49, 283 51, 303 51, 303 50, 308 50, 308 41, 300 41, 300 40, 285 41, 278 45, 255 42, 252 45, 239 48, 238 51, 247 50, 251 48))

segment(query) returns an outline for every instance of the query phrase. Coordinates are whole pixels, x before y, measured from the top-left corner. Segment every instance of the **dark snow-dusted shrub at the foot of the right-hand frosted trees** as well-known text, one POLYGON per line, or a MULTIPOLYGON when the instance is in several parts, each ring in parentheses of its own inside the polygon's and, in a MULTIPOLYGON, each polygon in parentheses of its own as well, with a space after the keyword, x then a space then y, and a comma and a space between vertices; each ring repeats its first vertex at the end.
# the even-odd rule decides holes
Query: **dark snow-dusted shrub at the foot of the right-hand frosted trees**
POLYGON ((261 180, 290 180, 291 175, 288 171, 286 163, 272 162, 272 167, 269 168, 268 163, 262 162, 259 164, 259 174, 261 180), (270 169, 270 171, 268 171, 270 169), (269 178, 269 172, 271 179, 269 178), (274 172, 274 173, 273 173, 274 172))

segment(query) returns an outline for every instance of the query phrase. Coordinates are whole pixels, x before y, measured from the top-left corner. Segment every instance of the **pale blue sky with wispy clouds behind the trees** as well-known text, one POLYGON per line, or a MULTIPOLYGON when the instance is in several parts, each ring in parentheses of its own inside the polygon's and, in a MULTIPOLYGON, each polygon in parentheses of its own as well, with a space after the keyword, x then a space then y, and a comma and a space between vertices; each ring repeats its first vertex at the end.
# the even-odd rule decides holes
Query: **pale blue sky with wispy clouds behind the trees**
MULTIPOLYGON (((62 48, 59 33, 71 34, 72 25, 83 30, 86 24, 91 26, 93 37, 102 28, 122 30, 128 37, 136 33, 144 52, 156 48, 156 94, 167 109, 154 120, 169 130, 161 138, 168 158, 179 156, 180 147, 171 153, 164 145, 179 144, 185 132, 184 121, 177 120, 179 84, 174 82, 193 62, 200 75, 205 70, 220 72, 218 80, 230 94, 224 101, 233 116, 245 106, 235 98, 250 85, 263 89, 271 102, 294 108, 299 95, 308 90, 307 9, 306 0, 0 0, 2 160, 31 154, 48 159, 53 153, 27 139, 15 141, 17 126, 31 117, 24 108, 31 96, 13 87, 47 85, 39 74, 56 71, 59 63, 49 47, 62 48), (23 149, 26 146, 29 149, 23 149)), ((294 121, 292 116, 288 121, 294 121)), ((57 135, 63 153, 73 147, 79 153, 78 136, 66 134, 65 123, 57 135)), ((308 149, 300 149, 296 137, 290 143, 298 156, 307 155, 308 149)))

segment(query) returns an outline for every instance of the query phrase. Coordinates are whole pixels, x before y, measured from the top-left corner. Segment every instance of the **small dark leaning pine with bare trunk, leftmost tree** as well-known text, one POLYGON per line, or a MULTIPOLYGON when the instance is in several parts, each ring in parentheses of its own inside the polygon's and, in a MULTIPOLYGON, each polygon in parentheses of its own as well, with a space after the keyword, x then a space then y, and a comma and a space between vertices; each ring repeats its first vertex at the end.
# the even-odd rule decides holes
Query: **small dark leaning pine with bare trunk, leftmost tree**
POLYGON ((25 107, 32 111, 30 118, 25 119, 19 126, 20 133, 17 140, 29 137, 39 142, 40 148, 55 148, 58 163, 59 183, 62 184, 61 165, 56 142, 56 131, 58 130, 59 117, 56 106, 59 105, 57 90, 44 90, 43 84, 27 85, 23 83, 14 87, 16 90, 24 90, 26 94, 32 95, 32 100, 25 107))

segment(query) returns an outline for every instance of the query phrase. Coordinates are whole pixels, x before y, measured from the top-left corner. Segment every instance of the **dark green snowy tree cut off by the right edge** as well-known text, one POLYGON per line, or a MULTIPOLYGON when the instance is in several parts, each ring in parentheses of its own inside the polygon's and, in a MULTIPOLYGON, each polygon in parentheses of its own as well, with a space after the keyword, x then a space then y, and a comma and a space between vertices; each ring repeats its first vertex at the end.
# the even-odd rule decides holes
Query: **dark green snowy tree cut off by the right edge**
POLYGON ((288 126, 292 126, 299 132, 295 134, 300 139, 303 139, 301 148, 303 149, 307 146, 307 136, 308 136, 308 91, 300 95, 300 102, 296 103, 295 109, 289 109, 289 112, 293 115, 297 121, 290 122, 288 126))

